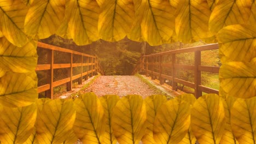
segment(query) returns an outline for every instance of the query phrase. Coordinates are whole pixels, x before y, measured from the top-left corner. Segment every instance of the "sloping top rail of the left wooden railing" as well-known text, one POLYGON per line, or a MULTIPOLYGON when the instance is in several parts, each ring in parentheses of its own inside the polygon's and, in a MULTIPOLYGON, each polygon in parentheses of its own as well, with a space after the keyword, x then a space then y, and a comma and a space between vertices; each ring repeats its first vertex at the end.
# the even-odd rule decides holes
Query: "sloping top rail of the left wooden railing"
POLYGON ((64 48, 59 47, 59 46, 44 44, 44 43, 40 43, 40 42, 38 42, 37 46, 41 47, 43 49, 48 49, 48 50, 55 50, 55 51, 60 51, 60 52, 73 53, 75 55, 82 55, 82 56, 86 56, 86 57, 95 57, 95 56, 91 56, 91 55, 88 55, 88 54, 85 54, 85 53, 82 53, 82 52, 72 51, 72 50, 69 50, 69 49, 64 49, 64 48))

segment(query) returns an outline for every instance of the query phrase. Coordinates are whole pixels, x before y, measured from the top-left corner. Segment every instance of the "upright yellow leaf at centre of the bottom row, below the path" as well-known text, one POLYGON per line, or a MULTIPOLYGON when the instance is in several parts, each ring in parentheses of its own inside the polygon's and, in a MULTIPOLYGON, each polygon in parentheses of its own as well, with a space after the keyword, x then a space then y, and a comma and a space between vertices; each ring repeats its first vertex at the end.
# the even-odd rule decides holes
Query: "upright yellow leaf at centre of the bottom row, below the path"
POLYGON ((113 133, 120 144, 138 144, 146 131, 147 110, 139 95, 121 98, 113 109, 113 133))

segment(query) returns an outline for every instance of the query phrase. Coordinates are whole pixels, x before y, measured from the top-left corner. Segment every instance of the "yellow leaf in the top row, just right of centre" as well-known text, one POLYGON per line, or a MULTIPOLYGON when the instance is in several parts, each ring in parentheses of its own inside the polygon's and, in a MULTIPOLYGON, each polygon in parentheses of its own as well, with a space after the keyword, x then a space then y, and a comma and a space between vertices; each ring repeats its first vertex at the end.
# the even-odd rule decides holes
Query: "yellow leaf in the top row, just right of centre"
POLYGON ((170 43, 174 31, 174 11, 165 0, 142 0, 139 13, 141 17, 141 32, 149 45, 170 43))

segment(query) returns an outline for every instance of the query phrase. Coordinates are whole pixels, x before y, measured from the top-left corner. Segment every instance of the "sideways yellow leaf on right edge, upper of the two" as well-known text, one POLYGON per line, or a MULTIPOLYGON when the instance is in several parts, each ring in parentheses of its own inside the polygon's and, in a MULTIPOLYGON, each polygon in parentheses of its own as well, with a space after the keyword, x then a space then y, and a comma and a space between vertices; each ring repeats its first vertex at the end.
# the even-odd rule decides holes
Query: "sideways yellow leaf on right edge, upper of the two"
POLYGON ((256 57, 256 29, 250 25, 231 25, 218 33, 220 60, 250 62, 256 57))

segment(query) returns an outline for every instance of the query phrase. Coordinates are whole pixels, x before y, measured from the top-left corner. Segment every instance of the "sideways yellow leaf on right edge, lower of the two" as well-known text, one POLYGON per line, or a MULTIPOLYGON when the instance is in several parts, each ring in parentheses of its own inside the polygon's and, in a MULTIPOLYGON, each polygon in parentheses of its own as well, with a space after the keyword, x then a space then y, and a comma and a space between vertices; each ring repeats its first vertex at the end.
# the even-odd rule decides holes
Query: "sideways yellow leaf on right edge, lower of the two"
POLYGON ((256 63, 228 62, 223 64, 219 69, 220 87, 227 94, 227 97, 255 97, 255 76, 256 63))

